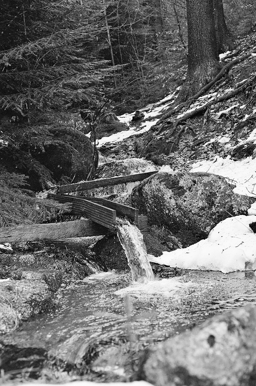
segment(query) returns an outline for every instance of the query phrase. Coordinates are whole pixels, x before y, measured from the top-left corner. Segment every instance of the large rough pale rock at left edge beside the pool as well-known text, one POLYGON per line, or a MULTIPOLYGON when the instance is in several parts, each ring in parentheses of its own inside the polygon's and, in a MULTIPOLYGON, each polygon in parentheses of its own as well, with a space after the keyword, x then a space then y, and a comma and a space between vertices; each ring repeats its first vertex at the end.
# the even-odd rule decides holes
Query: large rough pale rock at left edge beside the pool
POLYGON ((51 293, 41 280, 10 280, 0 283, 0 334, 4 334, 46 308, 51 307, 51 293))

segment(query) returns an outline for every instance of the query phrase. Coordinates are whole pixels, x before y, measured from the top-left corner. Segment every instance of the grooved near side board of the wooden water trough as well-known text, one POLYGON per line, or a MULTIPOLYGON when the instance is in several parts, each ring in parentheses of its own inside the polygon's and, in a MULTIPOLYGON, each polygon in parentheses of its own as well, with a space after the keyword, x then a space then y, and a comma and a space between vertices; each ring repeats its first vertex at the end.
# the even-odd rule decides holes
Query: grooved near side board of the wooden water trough
POLYGON ((59 202, 72 202, 73 210, 70 214, 86 216, 90 218, 90 220, 97 222, 108 229, 114 228, 116 212, 111 208, 104 207, 103 205, 76 196, 60 196, 52 193, 48 196, 59 202))

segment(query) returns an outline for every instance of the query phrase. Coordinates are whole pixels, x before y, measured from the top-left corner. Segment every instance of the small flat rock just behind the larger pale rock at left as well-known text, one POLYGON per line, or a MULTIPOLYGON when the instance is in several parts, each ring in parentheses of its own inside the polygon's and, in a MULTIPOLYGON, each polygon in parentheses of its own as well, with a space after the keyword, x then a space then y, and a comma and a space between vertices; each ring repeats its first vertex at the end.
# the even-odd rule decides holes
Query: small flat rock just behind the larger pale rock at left
POLYGON ((62 283, 62 274, 55 269, 39 269, 38 271, 15 270, 11 272, 10 278, 13 280, 43 280, 52 292, 56 292, 62 283))

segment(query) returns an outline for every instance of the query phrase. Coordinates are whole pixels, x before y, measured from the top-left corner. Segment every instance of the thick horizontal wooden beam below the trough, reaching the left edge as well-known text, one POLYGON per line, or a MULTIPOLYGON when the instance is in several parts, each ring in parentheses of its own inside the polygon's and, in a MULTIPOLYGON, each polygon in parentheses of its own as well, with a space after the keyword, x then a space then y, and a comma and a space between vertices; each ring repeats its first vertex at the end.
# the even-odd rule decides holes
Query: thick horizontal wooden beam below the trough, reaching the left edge
POLYGON ((76 220, 52 224, 18 225, 0 228, 0 243, 58 240, 68 237, 85 237, 109 234, 109 231, 91 220, 76 220))

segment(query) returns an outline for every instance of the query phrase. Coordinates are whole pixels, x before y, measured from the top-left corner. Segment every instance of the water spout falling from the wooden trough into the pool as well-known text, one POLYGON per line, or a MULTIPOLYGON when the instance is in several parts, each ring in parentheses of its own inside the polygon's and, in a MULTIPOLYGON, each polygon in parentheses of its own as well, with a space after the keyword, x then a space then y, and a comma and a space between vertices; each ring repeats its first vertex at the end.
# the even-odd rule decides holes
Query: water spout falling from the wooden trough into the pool
POLYGON ((154 274, 147 257, 147 249, 141 231, 129 221, 118 218, 117 236, 131 268, 132 280, 138 283, 153 281, 154 274))

